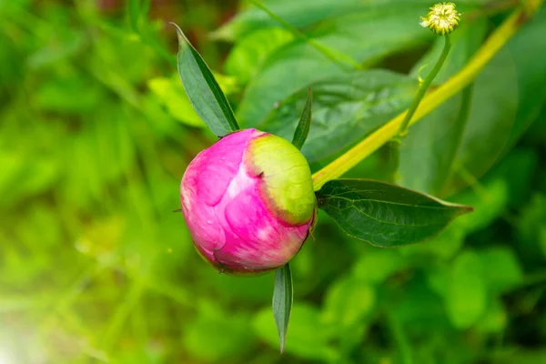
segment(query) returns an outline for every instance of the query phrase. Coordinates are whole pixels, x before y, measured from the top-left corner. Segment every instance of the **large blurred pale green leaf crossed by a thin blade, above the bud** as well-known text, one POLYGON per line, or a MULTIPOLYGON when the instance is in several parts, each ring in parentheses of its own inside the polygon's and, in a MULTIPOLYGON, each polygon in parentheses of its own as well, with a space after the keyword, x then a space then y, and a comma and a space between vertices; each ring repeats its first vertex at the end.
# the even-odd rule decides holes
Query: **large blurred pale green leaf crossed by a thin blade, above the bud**
MULTIPOLYGON (((369 65, 399 50, 420 45, 431 37, 416 26, 422 9, 414 4, 371 7, 319 25, 309 36, 334 51, 369 65), (364 37, 359 35, 373 35, 364 37)), ((333 63, 301 39, 282 46, 248 84, 238 107, 245 127, 258 126, 280 100, 313 83, 347 76, 346 67, 333 63), (289 70, 289 71, 288 71, 289 70), (282 86, 279 86, 282 85, 282 86)), ((313 87, 315 90, 315 87, 313 87)))

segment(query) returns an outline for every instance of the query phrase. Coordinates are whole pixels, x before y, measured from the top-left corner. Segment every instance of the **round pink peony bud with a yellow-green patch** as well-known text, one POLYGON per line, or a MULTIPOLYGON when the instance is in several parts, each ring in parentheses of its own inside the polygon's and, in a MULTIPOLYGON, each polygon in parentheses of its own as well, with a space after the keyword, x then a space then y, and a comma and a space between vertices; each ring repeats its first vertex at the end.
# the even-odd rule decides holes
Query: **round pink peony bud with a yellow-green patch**
POLYGON ((286 264, 308 237, 317 204, 298 148, 256 129, 199 153, 182 177, 180 200, 199 254, 231 274, 286 264))

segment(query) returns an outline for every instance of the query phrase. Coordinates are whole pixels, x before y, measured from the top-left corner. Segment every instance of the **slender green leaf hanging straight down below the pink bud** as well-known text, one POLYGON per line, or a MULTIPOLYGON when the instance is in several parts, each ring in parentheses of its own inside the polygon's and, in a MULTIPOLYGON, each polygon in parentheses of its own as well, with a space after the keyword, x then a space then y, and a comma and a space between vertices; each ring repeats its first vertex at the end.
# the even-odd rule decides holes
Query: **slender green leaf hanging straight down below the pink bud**
POLYGON ((273 317, 278 330, 280 341, 280 353, 285 350, 287 342, 288 320, 292 309, 294 288, 292 286, 292 273, 290 264, 278 268, 275 273, 275 290, 273 291, 273 317))

